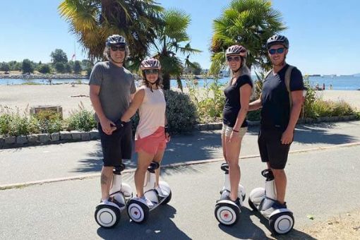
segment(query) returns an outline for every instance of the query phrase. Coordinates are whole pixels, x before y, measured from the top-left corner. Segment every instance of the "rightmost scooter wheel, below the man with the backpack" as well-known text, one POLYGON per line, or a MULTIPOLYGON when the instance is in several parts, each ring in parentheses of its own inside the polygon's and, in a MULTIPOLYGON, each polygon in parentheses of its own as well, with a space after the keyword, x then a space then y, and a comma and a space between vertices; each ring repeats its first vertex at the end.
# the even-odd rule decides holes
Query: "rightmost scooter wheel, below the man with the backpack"
POLYGON ((292 212, 279 212, 269 219, 270 229, 274 234, 287 234, 294 227, 292 212))

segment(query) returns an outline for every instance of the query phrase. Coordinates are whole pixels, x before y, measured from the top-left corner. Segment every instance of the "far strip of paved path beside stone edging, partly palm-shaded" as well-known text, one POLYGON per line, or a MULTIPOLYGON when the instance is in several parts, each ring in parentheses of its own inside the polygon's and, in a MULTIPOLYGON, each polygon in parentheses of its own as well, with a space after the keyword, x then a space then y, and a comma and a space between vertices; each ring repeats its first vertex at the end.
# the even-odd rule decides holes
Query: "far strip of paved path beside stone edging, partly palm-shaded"
MULTIPOLYGON (((241 157, 258 155, 258 128, 249 128, 244 137, 241 157)), ((360 141, 360 121, 337 124, 300 125, 291 150, 360 141)), ((0 150, 0 186, 27 181, 42 181, 98 174, 102 167, 100 141, 64 143, 0 150)), ((194 132, 174 136, 166 150, 163 164, 209 160, 222 157, 220 131, 194 132)), ((136 167, 136 156, 126 162, 136 167)))

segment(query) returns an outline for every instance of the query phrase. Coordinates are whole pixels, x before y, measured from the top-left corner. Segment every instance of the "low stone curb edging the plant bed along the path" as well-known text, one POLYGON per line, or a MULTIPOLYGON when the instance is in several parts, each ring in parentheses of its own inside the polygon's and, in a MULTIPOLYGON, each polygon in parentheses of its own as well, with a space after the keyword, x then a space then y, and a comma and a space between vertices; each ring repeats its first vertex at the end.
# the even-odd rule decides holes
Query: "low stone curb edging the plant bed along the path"
MULTIPOLYGON (((299 119, 297 124, 315 124, 324 122, 353 121, 356 115, 350 116, 326 116, 318 119, 299 119)), ((248 121, 249 126, 258 126, 260 121, 248 121)), ((221 130, 222 123, 197 124, 195 131, 221 130)), ((34 145, 48 145, 59 143, 73 143, 100 139, 97 130, 92 131, 60 131, 59 133, 31 134, 28 136, 0 136, 0 149, 22 148, 34 145)))

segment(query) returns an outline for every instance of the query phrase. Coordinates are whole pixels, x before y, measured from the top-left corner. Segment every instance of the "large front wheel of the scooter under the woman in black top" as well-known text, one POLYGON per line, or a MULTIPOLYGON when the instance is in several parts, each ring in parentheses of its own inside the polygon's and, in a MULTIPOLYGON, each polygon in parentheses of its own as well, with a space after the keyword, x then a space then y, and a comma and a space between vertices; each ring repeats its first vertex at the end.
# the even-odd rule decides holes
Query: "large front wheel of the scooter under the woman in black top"
POLYGON ((239 208, 227 203, 218 203, 215 206, 215 217, 221 224, 234 225, 240 217, 239 208))

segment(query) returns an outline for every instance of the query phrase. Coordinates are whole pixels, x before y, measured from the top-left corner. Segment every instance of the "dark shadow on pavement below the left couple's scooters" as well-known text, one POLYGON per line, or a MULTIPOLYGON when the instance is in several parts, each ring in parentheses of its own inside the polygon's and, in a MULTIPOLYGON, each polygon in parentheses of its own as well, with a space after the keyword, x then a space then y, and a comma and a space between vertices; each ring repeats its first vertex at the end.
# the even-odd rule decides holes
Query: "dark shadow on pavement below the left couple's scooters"
POLYGON ((126 212, 121 212, 121 220, 114 229, 99 227, 97 234, 102 239, 191 239, 182 232, 172 218, 176 209, 171 205, 160 206, 160 210, 150 212, 149 218, 143 224, 129 222, 126 212))

